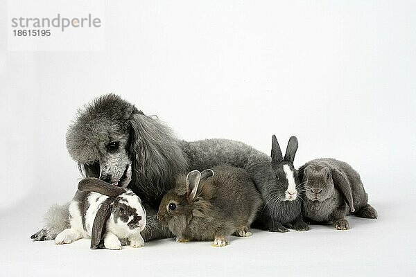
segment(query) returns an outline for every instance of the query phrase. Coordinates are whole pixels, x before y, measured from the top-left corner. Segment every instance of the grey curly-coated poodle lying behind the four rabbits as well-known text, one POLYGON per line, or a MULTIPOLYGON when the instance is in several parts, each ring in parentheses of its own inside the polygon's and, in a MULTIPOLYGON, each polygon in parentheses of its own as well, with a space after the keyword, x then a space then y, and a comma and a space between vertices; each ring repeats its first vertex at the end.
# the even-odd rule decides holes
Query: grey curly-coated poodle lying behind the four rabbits
MULTIPOLYGON (((85 177, 100 177, 130 187, 149 206, 145 240, 168 237, 155 220, 164 193, 175 177, 189 170, 205 170, 224 163, 245 168, 270 161, 268 155, 239 141, 208 139, 187 142, 176 139, 171 129, 135 105, 107 94, 78 110, 67 132, 67 149, 85 177)), ((33 240, 52 240, 67 226, 68 206, 49 211, 44 229, 33 240), (53 215, 51 215, 51 213, 53 215)))

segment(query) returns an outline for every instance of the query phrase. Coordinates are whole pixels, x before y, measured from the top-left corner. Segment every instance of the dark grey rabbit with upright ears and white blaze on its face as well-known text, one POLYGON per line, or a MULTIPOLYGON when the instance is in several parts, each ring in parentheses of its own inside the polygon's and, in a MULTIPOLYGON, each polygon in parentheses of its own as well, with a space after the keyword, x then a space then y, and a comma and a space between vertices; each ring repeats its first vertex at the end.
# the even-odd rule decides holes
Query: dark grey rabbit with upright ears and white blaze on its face
POLYGON ((247 168, 265 201, 263 212, 255 223, 270 232, 309 230, 308 224, 302 219, 303 188, 293 166, 297 147, 297 138, 291 136, 283 157, 276 136, 273 135, 271 161, 247 168))

